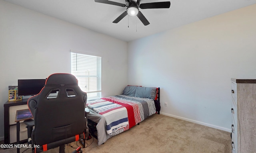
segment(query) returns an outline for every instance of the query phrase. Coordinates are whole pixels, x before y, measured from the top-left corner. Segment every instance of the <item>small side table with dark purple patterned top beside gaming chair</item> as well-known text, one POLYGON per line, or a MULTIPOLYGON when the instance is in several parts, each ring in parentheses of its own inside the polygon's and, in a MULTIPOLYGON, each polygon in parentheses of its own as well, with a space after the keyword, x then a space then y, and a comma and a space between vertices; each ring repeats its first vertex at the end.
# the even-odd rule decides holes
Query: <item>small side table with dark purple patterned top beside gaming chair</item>
MULTIPOLYGON (((15 122, 17 122, 17 145, 20 144, 20 121, 29 120, 33 118, 29 109, 17 110, 15 122)), ((17 153, 20 153, 20 148, 17 147, 17 153)))

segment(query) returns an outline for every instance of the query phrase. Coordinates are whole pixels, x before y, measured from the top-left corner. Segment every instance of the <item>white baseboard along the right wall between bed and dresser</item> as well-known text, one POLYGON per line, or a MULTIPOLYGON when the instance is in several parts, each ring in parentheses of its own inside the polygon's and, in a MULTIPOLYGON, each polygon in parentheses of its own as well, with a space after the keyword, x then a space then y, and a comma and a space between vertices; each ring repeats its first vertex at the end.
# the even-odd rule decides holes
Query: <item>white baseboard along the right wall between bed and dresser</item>
POLYGON ((171 115, 171 114, 167 114, 167 113, 161 113, 160 112, 160 114, 163 114, 163 115, 166 115, 166 116, 170 116, 170 117, 173 117, 173 118, 178 118, 180 120, 185 120, 185 121, 188 121, 188 122, 200 124, 200 125, 203 125, 203 126, 208 126, 210 128, 215 128, 215 129, 220 129, 220 130, 223 130, 223 131, 231 132, 231 129, 228 129, 228 128, 223 128, 223 127, 220 127, 220 126, 214 126, 212 124, 208 124, 208 123, 204 123, 204 122, 199 122, 199 121, 196 121, 196 120, 191 120, 191 119, 188 119, 188 118, 183 118, 183 117, 180 117, 180 116, 171 115))

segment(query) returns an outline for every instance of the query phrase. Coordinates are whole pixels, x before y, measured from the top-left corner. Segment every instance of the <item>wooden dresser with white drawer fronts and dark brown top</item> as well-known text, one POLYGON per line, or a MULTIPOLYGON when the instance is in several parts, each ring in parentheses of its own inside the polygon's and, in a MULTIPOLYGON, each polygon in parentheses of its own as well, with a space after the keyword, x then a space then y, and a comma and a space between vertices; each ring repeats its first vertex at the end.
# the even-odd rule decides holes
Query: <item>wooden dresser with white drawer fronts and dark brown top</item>
POLYGON ((256 153, 256 79, 231 79, 232 153, 256 153))

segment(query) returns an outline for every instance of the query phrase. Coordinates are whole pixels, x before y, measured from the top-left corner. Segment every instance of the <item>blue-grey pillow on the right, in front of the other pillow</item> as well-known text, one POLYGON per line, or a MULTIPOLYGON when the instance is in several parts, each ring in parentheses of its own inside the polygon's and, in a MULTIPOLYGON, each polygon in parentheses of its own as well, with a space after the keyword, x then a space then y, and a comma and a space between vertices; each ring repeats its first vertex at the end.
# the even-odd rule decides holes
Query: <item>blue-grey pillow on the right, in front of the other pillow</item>
POLYGON ((156 97, 156 88, 137 86, 134 96, 135 97, 140 97, 140 98, 155 99, 155 97, 156 97))

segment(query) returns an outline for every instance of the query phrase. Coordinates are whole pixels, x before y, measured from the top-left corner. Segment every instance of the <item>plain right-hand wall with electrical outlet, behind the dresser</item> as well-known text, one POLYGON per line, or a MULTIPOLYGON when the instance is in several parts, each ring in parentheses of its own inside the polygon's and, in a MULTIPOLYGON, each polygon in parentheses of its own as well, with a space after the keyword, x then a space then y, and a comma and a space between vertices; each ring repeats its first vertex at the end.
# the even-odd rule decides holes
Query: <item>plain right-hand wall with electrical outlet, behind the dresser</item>
POLYGON ((230 131, 230 78, 256 78, 255 17, 252 5, 129 42, 129 84, 159 86, 162 114, 230 131))

